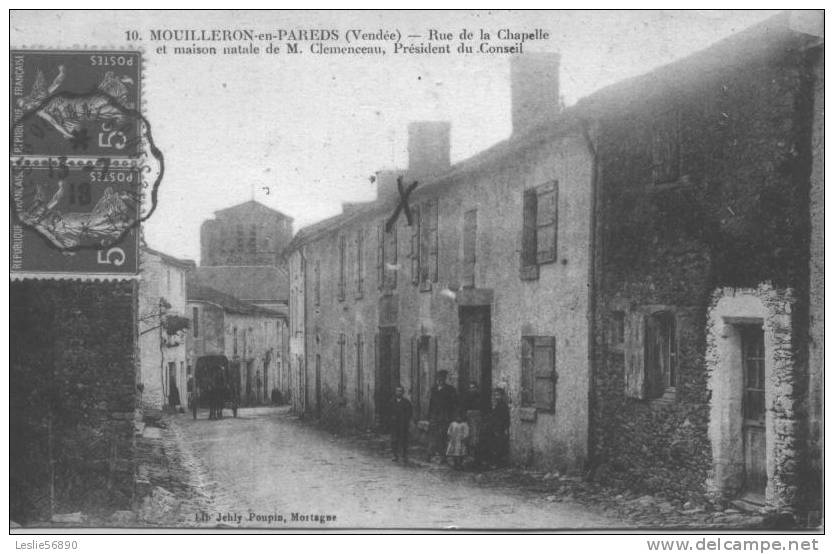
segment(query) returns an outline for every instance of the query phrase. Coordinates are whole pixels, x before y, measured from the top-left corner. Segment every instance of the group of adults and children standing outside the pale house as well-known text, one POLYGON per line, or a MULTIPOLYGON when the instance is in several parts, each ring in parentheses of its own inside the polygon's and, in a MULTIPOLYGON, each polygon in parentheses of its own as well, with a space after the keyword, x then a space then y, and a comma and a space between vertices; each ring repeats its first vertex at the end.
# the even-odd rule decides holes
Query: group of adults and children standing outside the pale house
MULTIPOLYGON (((448 384, 447 371, 437 372, 429 396, 428 459, 445 456, 455 469, 471 456, 475 465, 501 465, 509 451, 510 410, 504 389, 496 388, 490 406, 484 406, 478 384, 472 382, 463 394, 448 384)), ((411 402, 403 387, 394 392, 391 415, 391 448, 394 461, 408 460, 411 402)))

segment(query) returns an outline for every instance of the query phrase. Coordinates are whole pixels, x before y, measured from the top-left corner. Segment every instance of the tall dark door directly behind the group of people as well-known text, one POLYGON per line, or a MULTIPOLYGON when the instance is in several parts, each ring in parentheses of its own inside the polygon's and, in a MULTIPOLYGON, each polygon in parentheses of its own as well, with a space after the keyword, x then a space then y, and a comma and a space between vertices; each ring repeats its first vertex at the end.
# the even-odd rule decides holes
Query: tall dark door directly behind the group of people
POLYGON ((492 394, 492 327, 489 306, 463 306, 460 318, 460 373, 458 391, 475 382, 481 393, 481 410, 489 410, 492 394))

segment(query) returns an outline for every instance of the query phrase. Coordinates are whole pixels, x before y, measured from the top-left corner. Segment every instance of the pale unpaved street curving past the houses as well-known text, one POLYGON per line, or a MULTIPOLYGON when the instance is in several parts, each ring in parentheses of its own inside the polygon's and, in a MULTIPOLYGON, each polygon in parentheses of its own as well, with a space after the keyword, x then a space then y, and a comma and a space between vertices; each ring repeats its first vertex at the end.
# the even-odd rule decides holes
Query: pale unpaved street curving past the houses
POLYGON ((509 488, 479 486, 469 473, 396 464, 387 452, 305 425, 286 409, 241 409, 237 418, 222 421, 209 421, 205 411, 196 421, 178 415, 169 420, 166 434, 208 505, 180 510, 179 521, 169 522, 177 526, 623 526, 572 502, 549 503, 509 488), (218 521, 218 514, 226 520, 218 521), (317 516, 335 520, 317 521, 317 516))

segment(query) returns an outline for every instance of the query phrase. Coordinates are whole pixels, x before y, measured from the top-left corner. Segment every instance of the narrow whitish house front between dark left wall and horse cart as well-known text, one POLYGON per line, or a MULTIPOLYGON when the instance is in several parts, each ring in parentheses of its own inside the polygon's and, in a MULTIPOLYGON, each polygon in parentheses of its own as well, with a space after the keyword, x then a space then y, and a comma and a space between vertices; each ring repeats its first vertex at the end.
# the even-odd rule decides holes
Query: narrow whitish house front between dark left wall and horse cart
POLYGON ((139 264, 141 404, 154 409, 186 407, 189 329, 182 324, 187 323, 186 281, 195 264, 147 246, 140 250, 139 264))

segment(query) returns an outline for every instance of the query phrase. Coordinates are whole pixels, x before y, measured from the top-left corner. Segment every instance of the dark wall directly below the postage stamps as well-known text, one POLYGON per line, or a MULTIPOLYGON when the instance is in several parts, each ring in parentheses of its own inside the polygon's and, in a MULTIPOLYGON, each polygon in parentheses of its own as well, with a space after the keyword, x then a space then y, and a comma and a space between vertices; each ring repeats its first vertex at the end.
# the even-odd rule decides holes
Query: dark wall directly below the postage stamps
POLYGON ((137 407, 131 282, 10 290, 10 517, 108 515, 133 497, 137 407))

